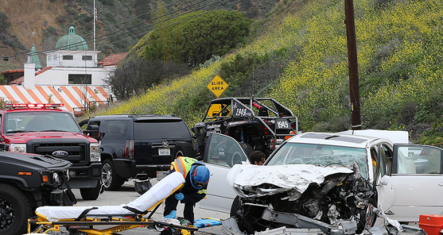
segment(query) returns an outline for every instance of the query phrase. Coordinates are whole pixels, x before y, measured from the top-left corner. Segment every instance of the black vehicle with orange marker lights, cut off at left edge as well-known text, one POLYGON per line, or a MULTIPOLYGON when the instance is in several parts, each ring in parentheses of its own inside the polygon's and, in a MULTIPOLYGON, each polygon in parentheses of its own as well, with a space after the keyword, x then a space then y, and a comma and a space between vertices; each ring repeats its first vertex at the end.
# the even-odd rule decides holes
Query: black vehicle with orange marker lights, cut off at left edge
POLYGON ((70 165, 53 156, 0 152, 0 234, 25 234, 38 206, 76 204, 67 182, 70 165))

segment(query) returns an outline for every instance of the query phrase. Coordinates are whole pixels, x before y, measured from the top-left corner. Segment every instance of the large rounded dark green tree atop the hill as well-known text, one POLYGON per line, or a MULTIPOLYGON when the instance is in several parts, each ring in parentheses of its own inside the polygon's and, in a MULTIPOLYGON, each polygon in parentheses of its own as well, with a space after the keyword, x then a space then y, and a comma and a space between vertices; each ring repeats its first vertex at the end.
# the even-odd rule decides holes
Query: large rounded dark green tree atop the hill
POLYGON ((171 60, 199 65, 212 56, 227 54, 244 42, 250 24, 251 20, 244 17, 244 13, 235 10, 188 13, 169 20, 166 24, 169 26, 162 31, 151 32, 145 58, 162 59, 164 47, 169 47, 168 58, 171 60))

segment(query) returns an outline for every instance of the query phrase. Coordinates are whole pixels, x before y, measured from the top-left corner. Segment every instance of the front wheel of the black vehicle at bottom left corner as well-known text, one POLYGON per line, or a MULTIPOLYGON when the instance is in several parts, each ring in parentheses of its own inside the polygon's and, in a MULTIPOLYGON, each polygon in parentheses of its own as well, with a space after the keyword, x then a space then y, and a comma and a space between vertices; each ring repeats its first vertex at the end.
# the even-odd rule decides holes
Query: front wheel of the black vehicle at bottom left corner
POLYGON ((32 217, 28 198, 19 188, 0 184, 0 234, 26 234, 32 217))

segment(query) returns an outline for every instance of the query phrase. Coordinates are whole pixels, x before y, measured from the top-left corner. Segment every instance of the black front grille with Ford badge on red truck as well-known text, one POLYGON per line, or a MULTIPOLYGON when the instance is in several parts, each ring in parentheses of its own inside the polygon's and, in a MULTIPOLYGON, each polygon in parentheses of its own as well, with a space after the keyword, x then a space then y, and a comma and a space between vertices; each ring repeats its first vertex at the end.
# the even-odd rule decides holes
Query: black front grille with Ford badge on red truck
POLYGON ((86 145, 81 143, 39 143, 32 145, 33 154, 53 156, 55 151, 63 150, 68 156, 54 156, 72 163, 84 163, 86 161, 86 145))

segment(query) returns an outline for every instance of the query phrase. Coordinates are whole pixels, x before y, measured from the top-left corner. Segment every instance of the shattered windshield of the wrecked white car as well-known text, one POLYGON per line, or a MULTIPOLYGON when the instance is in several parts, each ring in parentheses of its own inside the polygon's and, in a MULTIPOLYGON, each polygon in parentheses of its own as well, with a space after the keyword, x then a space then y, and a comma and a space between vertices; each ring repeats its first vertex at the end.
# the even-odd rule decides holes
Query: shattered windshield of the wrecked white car
POLYGON ((343 165, 356 162, 360 174, 368 179, 368 157, 365 149, 333 145, 316 145, 304 143, 286 143, 273 154, 266 165, 343 165))

